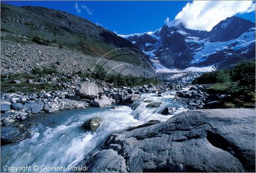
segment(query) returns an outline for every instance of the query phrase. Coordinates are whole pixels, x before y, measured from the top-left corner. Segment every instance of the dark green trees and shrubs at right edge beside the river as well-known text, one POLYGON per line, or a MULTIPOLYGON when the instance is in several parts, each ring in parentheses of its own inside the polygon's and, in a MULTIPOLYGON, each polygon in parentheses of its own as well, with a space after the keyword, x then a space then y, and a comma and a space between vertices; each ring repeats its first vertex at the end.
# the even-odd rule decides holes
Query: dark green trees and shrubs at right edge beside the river
POLYGON ((255 60, 242 61, 231 70, 205 72, 193 84, 213 84, 209 94, 230 94, 232 101, 224 107, 254 107, 255 60))

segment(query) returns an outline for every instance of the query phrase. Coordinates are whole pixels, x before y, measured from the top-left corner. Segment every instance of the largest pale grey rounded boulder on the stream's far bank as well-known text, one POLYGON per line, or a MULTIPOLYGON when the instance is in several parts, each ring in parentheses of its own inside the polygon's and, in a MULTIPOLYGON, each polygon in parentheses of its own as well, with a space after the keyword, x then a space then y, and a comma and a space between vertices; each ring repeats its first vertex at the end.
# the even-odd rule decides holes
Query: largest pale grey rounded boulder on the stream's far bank
POLYGON ((99 87, 94 82, 83 82, 75 90, 76 95, 92 100, 97 96, 99 87))

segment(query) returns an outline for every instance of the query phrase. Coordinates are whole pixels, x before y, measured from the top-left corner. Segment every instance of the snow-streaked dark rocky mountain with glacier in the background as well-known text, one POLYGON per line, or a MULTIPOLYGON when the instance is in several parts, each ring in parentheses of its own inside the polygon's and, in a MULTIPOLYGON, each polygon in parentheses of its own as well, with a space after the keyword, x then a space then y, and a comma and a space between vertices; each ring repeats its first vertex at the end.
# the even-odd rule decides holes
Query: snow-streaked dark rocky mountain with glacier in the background
POLYGON ((195 66, 211 71, 255 58, 255 23, 240 17, 228 17, 210 32, 190 30, 174 22, 154 32, 120 36, 151 56, 161 72, 188 67, 193 71, 195 66))

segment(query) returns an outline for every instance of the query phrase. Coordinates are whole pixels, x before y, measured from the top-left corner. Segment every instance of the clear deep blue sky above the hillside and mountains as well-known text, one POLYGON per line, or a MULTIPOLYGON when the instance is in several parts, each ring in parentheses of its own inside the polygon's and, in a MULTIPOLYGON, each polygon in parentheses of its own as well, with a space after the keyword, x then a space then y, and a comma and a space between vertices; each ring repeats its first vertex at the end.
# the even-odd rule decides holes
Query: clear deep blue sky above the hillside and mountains
MULTIPOLYGON (((66 11, 98 23, 117 34, 155 31, 168 17, 173 20, 191 1, 2 1, 14 6, 40 6, 66 11)), ((215 5, 216 6, 216 5, 215 5)), ((219 3, 218 6, 221 6, 219 3)), ((240 5, 241 6, 241 5, 240 5)), ((195 7, 189 7, 191 10, 195 7)), ((232 8, 231 6, 227 7, 232 8)), ((248 10, 247 10, 248 11, 248 10)), ((184 12, 186 12, 184 10, 184 12)), ((231 13, 230 13, 231 14, 231 13)), ((236 16, 255 22, 255 10, 236 16)), ((183 15, 185 16, 185 15, 183 15)), ((197 17, 197 16, 196 16, 197 17)), ((207 17, 207 16, 206 16, 207 17)), ((214 17, 214 16, 212 16, 214 17)), ((223 17, 223 16, 222 16, 223 17)), ((184 17, 183 17, 184 18, 184 17)), ((225 17, 226 18, 226 17, 225 17)), ((187 18, 186 18, 187 19, 187 18)), ((204 18, 203 18, 204 19, 204 18)), ((183 19, 184 20, 184 19, 183 19)), ((189 19, 188 19, 189 20, 189 19)), ((207 20, 207 18, 205 19, 207 20)), ((221 18, 216 19, 221 20, 221 18)), ((217 22, 216 21, 216 22, 217 22)), ((189 26, 189 22, 187 25, 189 26)), ((195 23, 194 23, 195 24, 195 23)), ((215 23, 211 23, 215 25, 215 23)))

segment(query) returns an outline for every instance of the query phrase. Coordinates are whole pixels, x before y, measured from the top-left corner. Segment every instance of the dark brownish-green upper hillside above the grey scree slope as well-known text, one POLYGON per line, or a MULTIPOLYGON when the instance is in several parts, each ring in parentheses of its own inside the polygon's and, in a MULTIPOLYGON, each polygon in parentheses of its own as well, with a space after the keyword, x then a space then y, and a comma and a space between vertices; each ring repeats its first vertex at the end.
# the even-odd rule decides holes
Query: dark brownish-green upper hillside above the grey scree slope
MULTIPOLYGON (((146 60, 144 62, 147 63, 147 67, 154 71, 148 57, 138 46, 87 19, 67 12, 43 7, 14 7, 1 3, 1 30, 29 38, 38 37, 96 57, 101 57, 116 48, 130 47, 130 50, 119 50, 118 53, 137 57, 119 56, 115 60, 129 59, 137 65, 146 60)), ((113 56, 115 54, 109 54, 106 58, 113 56)))

